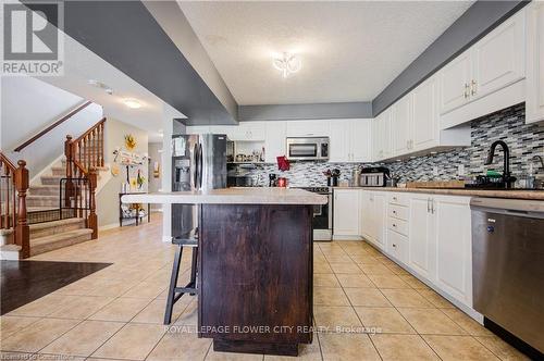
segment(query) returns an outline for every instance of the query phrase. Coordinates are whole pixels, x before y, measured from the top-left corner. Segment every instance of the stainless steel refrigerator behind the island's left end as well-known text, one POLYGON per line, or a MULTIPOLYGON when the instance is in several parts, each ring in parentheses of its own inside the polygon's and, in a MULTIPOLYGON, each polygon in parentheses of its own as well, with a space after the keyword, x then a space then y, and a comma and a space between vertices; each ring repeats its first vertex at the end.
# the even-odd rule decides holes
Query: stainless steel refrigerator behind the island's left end
MULTIPOLYGON (((172 191, 207 191, 226 187, 226 135, 172 137, 172 191)), ((195 204, 172 204, 172 236, 184 237, 198 226, 195 204)))

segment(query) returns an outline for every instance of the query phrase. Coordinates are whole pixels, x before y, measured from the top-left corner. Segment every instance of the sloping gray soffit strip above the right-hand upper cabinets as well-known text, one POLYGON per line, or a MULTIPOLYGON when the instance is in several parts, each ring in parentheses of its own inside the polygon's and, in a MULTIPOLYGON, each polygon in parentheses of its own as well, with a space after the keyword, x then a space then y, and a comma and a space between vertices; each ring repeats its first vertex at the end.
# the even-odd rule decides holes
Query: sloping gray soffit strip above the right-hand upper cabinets
POLYGON ((530 1, 477 1, 373 101, 376 116, 530 1))

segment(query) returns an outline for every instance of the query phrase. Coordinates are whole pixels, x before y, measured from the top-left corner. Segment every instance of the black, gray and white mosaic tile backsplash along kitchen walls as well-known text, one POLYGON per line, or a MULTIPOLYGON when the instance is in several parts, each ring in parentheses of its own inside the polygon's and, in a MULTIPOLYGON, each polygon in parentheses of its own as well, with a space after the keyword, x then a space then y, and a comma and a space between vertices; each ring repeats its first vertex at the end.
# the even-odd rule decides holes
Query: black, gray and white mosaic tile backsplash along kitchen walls
MULTIPOLYGON (((510 149, 510 169, 517 178, 527 176, 533 155, 544 157, 544 124, 526 124, 526 105, 521 103, 473 120, 470 147, 383 165, 400 183, 459 179, 458 167, 461 164, 465 165, 466 176, 483 174, 487 169, 502 171, 503 157, 499 148, 494 164, 484 165, 491 144, 498 139, 506 141, 510 149)), ((268 185, 270 173, 287 177, 292 187, 325 186, 323 172, 327 169, 338 169, 342 182, 348 180, 353 170, 361 165, 382 164, 293 162, 290 170, 286 172, 279 171, 275 164, 258 165, 258 169, 248 172, 262 186, 268 185)), ((533 163, 533 170, 539 177, 544 177, 544 171, 539 170, 537 163, 533 163)))

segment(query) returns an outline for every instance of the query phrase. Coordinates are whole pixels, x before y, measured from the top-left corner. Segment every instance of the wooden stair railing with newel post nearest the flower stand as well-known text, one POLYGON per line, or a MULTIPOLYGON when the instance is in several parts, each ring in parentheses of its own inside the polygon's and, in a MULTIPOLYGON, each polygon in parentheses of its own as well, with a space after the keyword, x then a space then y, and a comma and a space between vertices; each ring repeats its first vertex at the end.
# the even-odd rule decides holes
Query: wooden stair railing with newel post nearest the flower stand
MULTIPOLYGON (((64 185, 64 207, 83 201, 88 186, 88 215, 87 227, 92 229, 92 239, 98 238, 98 217, 96 214, 96 188, 98 182, 98 167, 104 165, 104 124, 106 117, 90 127, 77 139, 67 135, 64 141, 64 155, 66 157, 66 182, 64 185), (76 180, 86 178, 82 183, 76 180), (87 185, 85 189, 82 185, 87 185)), ((61 197, 62 199, 62 197, 61 197)), ((81 204, 79 204, 81 206, 81 204)), ((83 217, 83 208, 76 209, 83 217)))

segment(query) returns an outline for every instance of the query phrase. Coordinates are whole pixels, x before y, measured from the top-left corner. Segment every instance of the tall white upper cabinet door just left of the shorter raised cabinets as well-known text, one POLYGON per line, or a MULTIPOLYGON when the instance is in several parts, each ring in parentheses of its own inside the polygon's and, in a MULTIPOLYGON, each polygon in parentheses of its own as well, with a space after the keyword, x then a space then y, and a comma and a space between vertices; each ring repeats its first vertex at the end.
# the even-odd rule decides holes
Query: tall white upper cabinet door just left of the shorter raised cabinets
POLYGON ((438 145, 436 77, 431 77, 412 91, 412 151, 438 145))

